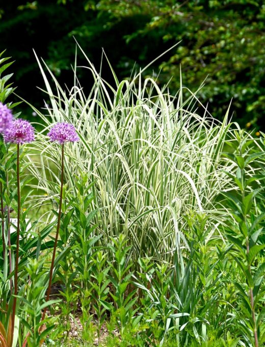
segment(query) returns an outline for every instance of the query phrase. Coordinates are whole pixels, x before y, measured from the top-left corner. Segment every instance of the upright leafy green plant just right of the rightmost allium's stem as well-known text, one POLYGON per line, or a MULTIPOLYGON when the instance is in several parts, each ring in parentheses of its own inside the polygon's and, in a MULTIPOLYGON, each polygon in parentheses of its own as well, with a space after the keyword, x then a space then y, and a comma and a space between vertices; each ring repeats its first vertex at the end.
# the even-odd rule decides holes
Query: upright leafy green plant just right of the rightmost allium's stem
MULTIPOLYGON (((107 281, 105 275, 108 268, 104 268, 106 258, 98 245, 102 235, 95 234, 93 220, 97 210, 92 210, 93 195, 90 192, 91 185, 87 185, 87 182, 87 174, 76 177, 75 191, 69 196, 71 209, 65 214, 62 222, 61 239, 67 242, 67 237, 69 237, 72 242, 68 257, 70 260, 68 263, 72 268, 69 283, 72 286, 72 295, 73 289, 75 289, 75 295, 78 295, 81 302, 82 316, 80 319, 83 326, 83 339, 92 341, 94 331, 92 319, 96 320, 99 338, 103 317, 105 318, 105 308, 101 301, 105 300, 105 290, 108 285, 105 283, 107 281), (72 222, 69 226, 70 219, 72 222), (69 231, 67 231, 68 227, 69 231)), ((69 267, 67 266, 67 268, 69 267)), ((60 278, 64 281, 65 272, 60 275, 60 278)))

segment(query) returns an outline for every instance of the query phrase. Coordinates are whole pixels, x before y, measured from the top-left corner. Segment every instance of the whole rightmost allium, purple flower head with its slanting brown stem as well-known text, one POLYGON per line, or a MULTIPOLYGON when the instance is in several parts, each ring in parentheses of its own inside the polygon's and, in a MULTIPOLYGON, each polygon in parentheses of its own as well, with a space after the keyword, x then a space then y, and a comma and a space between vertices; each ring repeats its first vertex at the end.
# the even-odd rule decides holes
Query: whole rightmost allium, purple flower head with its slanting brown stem
MULTIPOLYGON (((49 300, 49 295, 50 295, 52 272, 54 270, 56 247, 58 242, 61 213, 62 213, 63 181, 64 181, 64 145, 66 142, 75 142, 79 140, 75 132, 74 126, 66 122, 59 122, 56 125, 54 125, 50 129, 48 136, 50 141, 58 142, 60 145, 62 145, 62 152, 61 152, 61 190, 60 190, 60 203, 59 203, 59 211, 58 211, 58 222, 57 222, 57 230, 56 230, 56 237, 55 237, 55 243, 54 243, 54 251, 52 253, 52 259, 50 264, 50 275, 49 275, 48 289, 46 293, 46 302, 49 300)), ((42 319, 44 319, 45 317, 46 309, 47 307, 43 310, 42 319)))

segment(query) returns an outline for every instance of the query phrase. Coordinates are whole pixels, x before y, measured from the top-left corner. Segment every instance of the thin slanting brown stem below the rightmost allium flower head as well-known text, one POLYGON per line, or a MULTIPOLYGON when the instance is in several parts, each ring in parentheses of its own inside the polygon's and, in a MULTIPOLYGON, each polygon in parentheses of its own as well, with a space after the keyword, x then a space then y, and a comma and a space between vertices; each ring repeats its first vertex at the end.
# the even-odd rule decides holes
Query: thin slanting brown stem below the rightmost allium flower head
MULTIPOLYGON (((56 230, 56 237, 55 237, 55 244, 54 244, 54 252, 52 254, 51 265, 50 265, 50 275, 49 275, 49 284, 48 284, 48 289, 46 294, 46 302, 49 300, 49 295, 51 290, 52 273, 54 270, 56 247, 57 247, 57 241, 58 241, 59 230, 60 230, 62 202, 63 202, 63 184, 64 184, 64 143, 62 144, 61 191, 60 191, 60 203, 59 203, 59 211, 58 211, 58 222, 57 222, 57 230, 56 230)), ((45 307, 43 311, 42 320, 45 318, 46 310, 47 310, 47 307, 45 307)))

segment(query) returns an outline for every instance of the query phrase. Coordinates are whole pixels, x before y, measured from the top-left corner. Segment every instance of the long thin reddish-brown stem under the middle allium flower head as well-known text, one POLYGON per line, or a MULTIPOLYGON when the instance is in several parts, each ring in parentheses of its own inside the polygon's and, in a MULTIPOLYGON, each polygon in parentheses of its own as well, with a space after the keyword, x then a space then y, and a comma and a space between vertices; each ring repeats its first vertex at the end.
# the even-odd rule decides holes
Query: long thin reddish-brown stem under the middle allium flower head
POLYGON ((14 278, 14 302, 13 302, 13 314, 12 314, 12 331, 11 331, 11 343, 13 343, 13 335, 15 328, 15 315, 16 315, 16 302, 17 302, 17 274, 18 274, 18 258, 19 258, 19 229, 20 229, 20 177, 19 177, 19 143, 17 143, 17 239, 16 239, 16 260, 15 260, 15 278, 14 278))

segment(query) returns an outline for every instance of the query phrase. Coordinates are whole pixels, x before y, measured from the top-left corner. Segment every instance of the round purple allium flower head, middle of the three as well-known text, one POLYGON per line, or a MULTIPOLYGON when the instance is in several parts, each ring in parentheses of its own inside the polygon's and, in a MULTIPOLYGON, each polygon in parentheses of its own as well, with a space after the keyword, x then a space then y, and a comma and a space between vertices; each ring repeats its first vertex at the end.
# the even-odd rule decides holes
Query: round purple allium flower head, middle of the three
POLYGON ((28 120, 15 119, 9 129, 4 132, 4 140, 13 143, 34 141, 34 128, 28 120))

